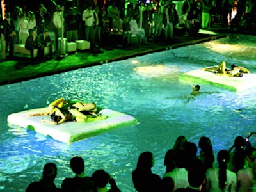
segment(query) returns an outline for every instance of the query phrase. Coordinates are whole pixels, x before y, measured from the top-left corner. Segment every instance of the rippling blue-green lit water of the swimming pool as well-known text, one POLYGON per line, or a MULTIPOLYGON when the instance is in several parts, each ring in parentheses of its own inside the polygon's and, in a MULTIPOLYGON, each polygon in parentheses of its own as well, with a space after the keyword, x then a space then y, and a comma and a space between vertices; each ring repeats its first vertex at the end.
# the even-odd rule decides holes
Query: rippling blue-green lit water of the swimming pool
MULTIPOLYGON (((196 144, 201 136, 209 136, 215 152, 228 149, 237 135, 255 131, 255 88, 236 93, 201 84, 202 92, 214 93, 192 99, 190 83, 179 81, 179 75, 223 60, 228 67, 239 63, 256 72, 253 42, 255 36, 230 36, 0 86, 0 190, 26 189, 31 181, 40 179, 49 161, 58 166, 56 184, 60 186, 65 177, 72 175, 70 158, 81 156, 86 175, 104 168, 122 191, 134 191, 131 172, 141 152, 154 154, 152 170, 163 175, 164 154, 177 136, 184 135, 196 144), (7 125, 10 113, 44 107, 58 97, 93 101, 135 116, 138 124, 70 146, 7 125)), ((255 145, 253 136, 250 141, 255 145)))

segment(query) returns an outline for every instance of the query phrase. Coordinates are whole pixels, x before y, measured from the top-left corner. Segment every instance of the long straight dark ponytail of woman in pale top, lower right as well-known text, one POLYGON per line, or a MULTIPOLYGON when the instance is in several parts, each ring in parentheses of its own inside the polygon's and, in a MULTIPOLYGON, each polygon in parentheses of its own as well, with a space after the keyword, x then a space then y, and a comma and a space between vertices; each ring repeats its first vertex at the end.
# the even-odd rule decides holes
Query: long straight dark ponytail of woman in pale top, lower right
POLYGON ((219 187, 225 189, 227 182, 227 163, 230 159, 230 154, 227 150, 218 152, 217 161, 219 163, 219 187))

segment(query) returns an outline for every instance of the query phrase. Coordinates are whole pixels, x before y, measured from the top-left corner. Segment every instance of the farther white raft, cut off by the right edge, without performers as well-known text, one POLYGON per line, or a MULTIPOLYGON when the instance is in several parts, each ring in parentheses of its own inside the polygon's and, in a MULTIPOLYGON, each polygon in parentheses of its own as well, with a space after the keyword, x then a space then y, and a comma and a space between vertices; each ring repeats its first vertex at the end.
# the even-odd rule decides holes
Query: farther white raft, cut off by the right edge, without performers
POLYGON ((179 79, 197 84, 210 84, 233 92, 241 92, 256 86, 256 74, 243 73, 243 77, 228 77, 198 69, 181 74, 179 79))

